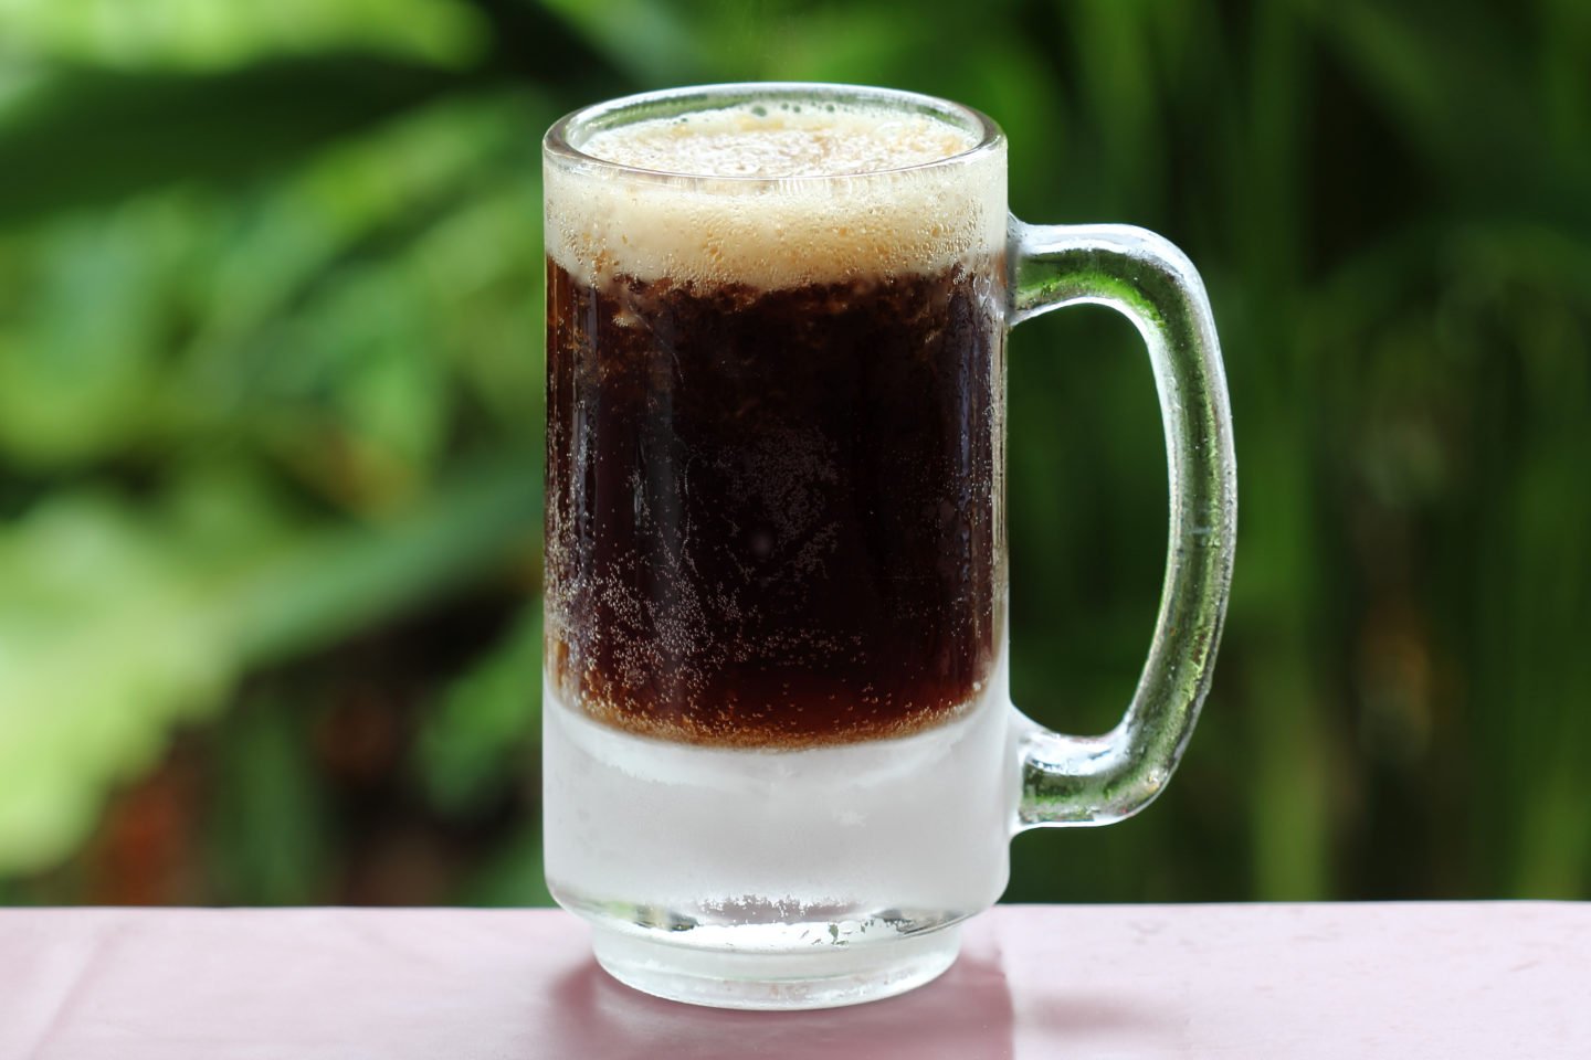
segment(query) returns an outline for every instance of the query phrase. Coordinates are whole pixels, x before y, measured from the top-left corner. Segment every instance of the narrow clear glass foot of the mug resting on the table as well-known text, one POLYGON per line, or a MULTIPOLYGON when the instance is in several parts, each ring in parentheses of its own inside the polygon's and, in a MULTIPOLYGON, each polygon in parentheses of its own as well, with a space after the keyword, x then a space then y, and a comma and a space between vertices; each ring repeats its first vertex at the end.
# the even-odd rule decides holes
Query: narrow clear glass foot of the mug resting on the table
POLYGON ((670 1001, 721 1009, 829 1009, 893 998, 939 977, 961 950, 961 927, 802 954, 671 946, 593 925, 592 950, 619 982, 670 1001))

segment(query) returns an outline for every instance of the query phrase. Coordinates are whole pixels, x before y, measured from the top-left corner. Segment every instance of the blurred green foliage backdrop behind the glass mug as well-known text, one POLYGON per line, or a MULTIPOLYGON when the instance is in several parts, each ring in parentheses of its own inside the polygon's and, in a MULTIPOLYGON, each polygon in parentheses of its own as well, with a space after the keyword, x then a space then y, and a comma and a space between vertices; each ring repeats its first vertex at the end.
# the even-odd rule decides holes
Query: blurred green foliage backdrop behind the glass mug
MULTIPOLYGON (((1241 547, 1171 795, 1009 898, 1591 896, 1591 5, 0 0, 0 901, 539 903, 539 135, 741 78, 993 114, 1222 326, 1241 547)), ((1109 313, 1010 353, 1015 691, 1131 691, 1109 313)))

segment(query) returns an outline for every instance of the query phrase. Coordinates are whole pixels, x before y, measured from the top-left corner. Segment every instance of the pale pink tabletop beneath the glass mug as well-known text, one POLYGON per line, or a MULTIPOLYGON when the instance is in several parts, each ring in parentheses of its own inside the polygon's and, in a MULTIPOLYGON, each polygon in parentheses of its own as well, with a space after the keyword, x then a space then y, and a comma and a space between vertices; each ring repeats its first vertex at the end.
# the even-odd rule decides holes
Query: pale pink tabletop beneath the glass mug
POLYGON ((0 911, 0 1057, 1591 1057, 1591 906, 1004 906, 939 982, 716 1012, 552 911, 0 911))

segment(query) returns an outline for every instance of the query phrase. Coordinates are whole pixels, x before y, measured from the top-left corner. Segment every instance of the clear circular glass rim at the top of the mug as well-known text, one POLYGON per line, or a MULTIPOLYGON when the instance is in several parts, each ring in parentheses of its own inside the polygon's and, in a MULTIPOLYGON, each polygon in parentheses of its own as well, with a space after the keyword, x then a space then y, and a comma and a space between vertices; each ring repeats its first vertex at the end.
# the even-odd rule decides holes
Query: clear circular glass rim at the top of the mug
POLYGON ((547 129, 543 137, 543 159, 568 168, 608 172, 652 181, 713 181, 753 189, 757 186, 780 188, 821 181, 866 180, 894 173, 915 173, 939 167, 959 167, 977 162, 1001 149, 1006 133, 983 111, 924 92, 889 89, 867 84, 835 84, 826 81, 729 81, 722 84, 692 84, 651 92, 635 92, 617 99, 592 103, 570 111, 547 129), (977 141, 955 154, 913 165, 862 170, 858 173, 805 173, 797 176, 735 176, 716 173, 684 173, 654 170, 640 165, 614 162, 582 149, 582 135, 613 129, 648 118, 670 118, 703 110, 716 110, 756 102, 792 100, 802 103, 864 103, 886 106, 899 113, 929 114, 977 135, 977 141))

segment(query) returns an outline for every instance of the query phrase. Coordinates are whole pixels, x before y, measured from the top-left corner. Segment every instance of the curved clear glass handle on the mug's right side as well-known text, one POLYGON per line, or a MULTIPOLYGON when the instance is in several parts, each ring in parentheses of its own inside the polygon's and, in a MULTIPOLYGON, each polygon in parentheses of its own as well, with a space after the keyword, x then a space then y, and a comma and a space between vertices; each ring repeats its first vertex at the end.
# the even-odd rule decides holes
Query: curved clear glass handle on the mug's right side
POLYGON ((1063 305, 1109 305, 1144 337, 1160 393, 1171 532, 1160 617, 1133 702, 1104 736, 1061 736, 1017 712, 1015 830, 1109 825, 1166 787, 1209 691, 1238 523, 1227 377, 1204 283, 1163 237, 1125 224, 1012 218, 1007 261, 1012 326, 1063 305))

